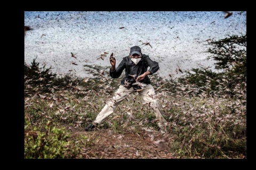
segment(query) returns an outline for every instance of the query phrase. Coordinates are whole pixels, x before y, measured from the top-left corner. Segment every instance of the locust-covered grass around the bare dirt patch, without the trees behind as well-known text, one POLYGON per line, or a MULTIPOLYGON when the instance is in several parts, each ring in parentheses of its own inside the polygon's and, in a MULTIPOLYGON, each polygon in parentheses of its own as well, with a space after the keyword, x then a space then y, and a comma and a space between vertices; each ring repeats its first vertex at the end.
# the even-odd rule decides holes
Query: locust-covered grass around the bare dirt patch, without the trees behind
MULTIPOLYGON (((25 92, 25 158, 82 158, 82 148, 93 146, 93 141, 100 137, 79 135, 70 138, 72 132, 65 127, 74 127, 75 122, 82 122, 84 128, 95 120, 105 106, 104 101, 113 97, 119 80, 108 78, 102 84, 101 78, 97 78, 82 83, 81 79, 65 77, 66 84, 73 82, 72 86, 60 86, 60 79, 57 81, 59 89, 49 92, 37 81, 27 79, 26 84, 31 89, 38 89, 37 92, 46 98, 33 99, 35 91, 25 92), (81 86, 80 90, 76 84, 81 86), (107 84, 113 86, 105 89, 107 84), (52 103, 55 104, 51 106, 52 103)), ((154 82, 158 80, 155 77, 151 80, 157 88, 154 82)), ((164 90, 157 94, 159 105, 166 106, 163 116, 168 122, 168 147, 178 158, 246 158, 246 100, 228 95, 206 97, 206 91, 201 93, 204 97, 187 96, 186 91, 173 87, 173 82, 162 81, 159 84, 165 84, 164 90), (174 94, 172 90, 172 95, 168 95, 170 91, 165 88, 170 86, 176 90, 174 94), (159 94, 162 92, 167 95, 159 94)), ((187 84, 179 86, 190 90, 187 84)), ((140 134, 142 128, 157 130, 153 109, 141 105, 143 102, 139 96, 136 99, 139 102, 134 103, 133 97, 119 104, 100 128, 111 129, 116 134, 131 130, 140 134), (127 111, 128 108, 131 110, 127 111)))

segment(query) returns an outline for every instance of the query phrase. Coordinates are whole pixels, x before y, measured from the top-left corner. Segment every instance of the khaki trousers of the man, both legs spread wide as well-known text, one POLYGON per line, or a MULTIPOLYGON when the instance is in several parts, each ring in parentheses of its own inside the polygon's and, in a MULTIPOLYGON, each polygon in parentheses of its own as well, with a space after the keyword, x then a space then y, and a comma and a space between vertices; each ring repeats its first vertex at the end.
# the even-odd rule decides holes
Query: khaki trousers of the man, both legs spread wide
MULTIPOLYGON (((108 101, 108 103, 103 107, 101 112, 96 117, 94 123, 102 123, 110 116, 118 106, 127 96, 129 96, 133 91, 133 88, 126 89, 124 86, 120 85, 118 90, 115 92, 115 96, 112 100, 108 101)), ((164 125, 167 124, 166 120, 162 116, 161 108, 159 107, 158 101, 156 100, 155 90, 151 86, 151 84, 147 84, 143 88, 143 90, 138 91, 139 95, 146 101, 147 103, 150 102, 150 107, 153 107, 155 116, 157 118, 157 124, 159 128, 162 128, 164 125)))

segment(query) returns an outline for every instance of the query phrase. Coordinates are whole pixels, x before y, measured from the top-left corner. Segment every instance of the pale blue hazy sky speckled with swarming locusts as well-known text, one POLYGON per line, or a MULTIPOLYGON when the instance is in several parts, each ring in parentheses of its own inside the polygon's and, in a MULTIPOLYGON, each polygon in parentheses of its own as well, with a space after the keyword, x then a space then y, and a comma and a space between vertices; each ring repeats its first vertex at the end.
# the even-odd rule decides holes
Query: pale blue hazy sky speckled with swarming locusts
POLYGON ((137 45, 159 63, 161 77, 182 75, 175 72, 177 64, 183 71, 199 64, 215 71, 213 61, 206 60, 206 40, 246 32, 246 11, 230 12, 224 19, 222 11, 26 11, 24 25, 33 30, 26 33, 24 59, 30 64, 37 57, 36 62, 52 66, 54 73, 73 70, 87 78, 92 75, 83 65, 110 66, 114 53, 118 66, 137 45), (97 60, 104 52, 109 54, 97 60))

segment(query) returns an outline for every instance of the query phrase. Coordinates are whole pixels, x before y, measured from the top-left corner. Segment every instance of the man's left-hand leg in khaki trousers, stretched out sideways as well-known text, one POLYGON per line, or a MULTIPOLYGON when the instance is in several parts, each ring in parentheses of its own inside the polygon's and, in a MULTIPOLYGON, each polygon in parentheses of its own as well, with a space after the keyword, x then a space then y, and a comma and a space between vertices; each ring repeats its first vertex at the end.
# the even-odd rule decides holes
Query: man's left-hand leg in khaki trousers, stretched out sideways
POLYGON ((115 92, 115 96, 113 97, 113 99, 108 101, 108 103, 103 107, 103 109, 93 122, 99 124, 104 122, 107 119, 107 117, 115 111, 116 106, 118 106, 121 103, 121 101, 123 101, 132 92, 133 88, 126 89, 122 85, 119 86, 118 90, 115 92))

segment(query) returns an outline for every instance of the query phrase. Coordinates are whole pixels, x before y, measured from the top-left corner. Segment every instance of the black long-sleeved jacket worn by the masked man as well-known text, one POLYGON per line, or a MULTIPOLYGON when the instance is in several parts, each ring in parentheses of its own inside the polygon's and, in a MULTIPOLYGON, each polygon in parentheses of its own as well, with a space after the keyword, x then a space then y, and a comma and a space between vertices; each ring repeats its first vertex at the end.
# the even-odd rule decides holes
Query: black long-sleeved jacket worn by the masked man
MULTIPOLYGON (((130 75, 137 74, 137 76, 139 76, 147 71, 150 71, 149 75, 152 75, 155 72, 157 72, 157 70, 159 70, 159 66, 157 62, 152 61, 149 58, 149 56, 145 54, 142 54, 141 60, 137 65, 132 62, 130 56, 126 56, 126 57, 123 57, 123 60, 118 65, 118 67, 116 67, 116 70, 111 71, 111 68, 110 68, 109 75, 111 78, 114 78, 114 79, 119 78, 124 69, 125 69, 125 77, 121 81, 121 84, 124 84, 124 80, 126 80, 127 78, 131 79, 129 74, 130 75), (149 67, 149 70, 147 70, 148 67, 149 67)), ((140 82, 145 84, 150 84, 150 79, 148 75, 146 75, 146 77, 140 82)))

